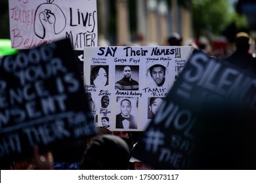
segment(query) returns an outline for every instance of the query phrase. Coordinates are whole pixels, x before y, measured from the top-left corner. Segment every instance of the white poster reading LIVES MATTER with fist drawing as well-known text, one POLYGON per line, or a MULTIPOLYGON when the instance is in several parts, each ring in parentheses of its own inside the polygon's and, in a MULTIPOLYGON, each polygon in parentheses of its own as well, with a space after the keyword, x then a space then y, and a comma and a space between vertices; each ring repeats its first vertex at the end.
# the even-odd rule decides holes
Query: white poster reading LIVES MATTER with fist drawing
POLYGON ((9 0, 12 48, 29 49, 69 38, 74 50, 97 46, 96 1, 9 0))

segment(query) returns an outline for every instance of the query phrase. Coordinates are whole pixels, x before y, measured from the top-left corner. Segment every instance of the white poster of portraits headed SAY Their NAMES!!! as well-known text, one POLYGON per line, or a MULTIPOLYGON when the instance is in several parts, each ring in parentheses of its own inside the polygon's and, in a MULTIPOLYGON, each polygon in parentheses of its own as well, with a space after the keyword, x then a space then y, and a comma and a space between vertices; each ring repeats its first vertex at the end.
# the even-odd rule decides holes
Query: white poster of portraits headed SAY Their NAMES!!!
POLYGON ((85 47, 85 93, 95 123, 143 131, 191 53, 191 46, 85 47))

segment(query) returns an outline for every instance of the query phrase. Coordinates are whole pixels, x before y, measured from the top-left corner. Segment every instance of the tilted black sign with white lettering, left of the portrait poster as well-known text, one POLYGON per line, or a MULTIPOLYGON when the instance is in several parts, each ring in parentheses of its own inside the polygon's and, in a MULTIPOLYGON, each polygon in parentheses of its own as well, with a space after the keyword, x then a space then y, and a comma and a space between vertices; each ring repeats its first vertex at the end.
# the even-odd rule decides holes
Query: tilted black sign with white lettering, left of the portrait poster
MULTIPOLYGON (((0 159, 95 135, 68 39, 0 61, 0 159)), ((84 144, 83 144, 84 145, 84 144)))

